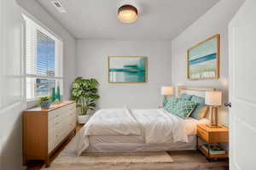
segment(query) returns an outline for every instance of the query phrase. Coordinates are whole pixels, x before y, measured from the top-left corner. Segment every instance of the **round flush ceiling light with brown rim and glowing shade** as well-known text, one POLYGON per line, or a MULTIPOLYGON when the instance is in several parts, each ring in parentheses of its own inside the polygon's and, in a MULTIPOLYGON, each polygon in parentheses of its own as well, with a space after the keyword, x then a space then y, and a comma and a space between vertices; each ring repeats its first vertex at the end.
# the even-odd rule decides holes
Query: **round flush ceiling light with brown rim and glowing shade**
POLYGON ((132 23, 132 22, 136 21, 137 20, 137 8, 132 5, 129 5, 129 4, 125 4, 121 7, 119 7, 118 19, 125 23, 132 23))

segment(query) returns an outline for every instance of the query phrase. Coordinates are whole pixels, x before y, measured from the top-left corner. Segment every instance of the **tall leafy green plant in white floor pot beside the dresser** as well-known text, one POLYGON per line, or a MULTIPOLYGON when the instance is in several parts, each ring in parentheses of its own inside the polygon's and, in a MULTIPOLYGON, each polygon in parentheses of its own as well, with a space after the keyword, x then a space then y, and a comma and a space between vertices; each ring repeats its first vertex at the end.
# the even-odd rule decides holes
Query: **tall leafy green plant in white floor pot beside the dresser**
POLYGON ((96 110, 96 100, 100 98, 97 94, 99 83, 96 79, 84 79, 77 77, 72 83, 72 96, 80 108, 79 123, 84 124, 90 118, 90 111, 96 110))

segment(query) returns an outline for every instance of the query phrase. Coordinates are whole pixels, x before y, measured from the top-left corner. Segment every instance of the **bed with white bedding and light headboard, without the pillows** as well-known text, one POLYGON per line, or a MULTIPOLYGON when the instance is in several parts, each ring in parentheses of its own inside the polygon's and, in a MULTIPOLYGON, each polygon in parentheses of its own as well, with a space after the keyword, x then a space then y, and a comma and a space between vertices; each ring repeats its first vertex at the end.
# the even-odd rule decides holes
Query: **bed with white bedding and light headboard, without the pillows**
MULTIPOLYGON (((214 88, 177 87, 177 94, 205 97, 214 88)), ((96 111, 77 135, 77 154, 82 152, 136 152, 195 150, 196 125, 208 123, 185 120, 164 109, 103 109, 96 111)))

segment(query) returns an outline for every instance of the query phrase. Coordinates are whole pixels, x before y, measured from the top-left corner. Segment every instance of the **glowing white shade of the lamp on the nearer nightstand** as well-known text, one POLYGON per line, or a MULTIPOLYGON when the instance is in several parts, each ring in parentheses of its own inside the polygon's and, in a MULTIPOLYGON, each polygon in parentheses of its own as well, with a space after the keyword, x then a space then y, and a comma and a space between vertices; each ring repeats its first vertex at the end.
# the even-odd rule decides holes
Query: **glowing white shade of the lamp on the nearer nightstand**
POLYGON ((222 104, 222 92, 213 91, 206 93, 206 105, 221 105, 222 104))

